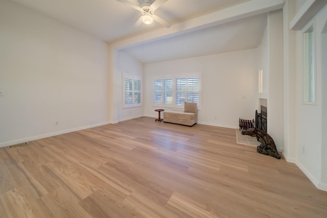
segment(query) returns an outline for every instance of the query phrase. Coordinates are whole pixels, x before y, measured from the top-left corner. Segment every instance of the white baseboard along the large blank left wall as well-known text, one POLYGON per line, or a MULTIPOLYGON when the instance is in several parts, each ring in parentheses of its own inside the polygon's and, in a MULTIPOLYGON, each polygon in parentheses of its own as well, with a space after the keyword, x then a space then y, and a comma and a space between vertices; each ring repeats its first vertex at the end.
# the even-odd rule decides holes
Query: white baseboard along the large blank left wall
POLYGON ((13 144, 18 144, 18 143, 22 143, 22 142, 33 141, 33 140, 37 140, 37 139, 41 139, 41 138, 46 138, 46 137, 61 135, 61 134, 69 133, 69 132, 75 132, 75 131, 79 131, 79 130, 103 126, 103 125, 107 125, 107 124, 112 124, 112 122, 104 122, 104 123, 100 123, 100 124, 93 124, 93 125, 88 125, 88 126, 84 126, 84 127, 77 127, 77 128, 73 128, 73 129, 62 130, 62 131, 52 132, 52 133, 46 133, 46 134, 27 137, 27 138, 20 138, 20 139, 12 140, 12 141, 5 141, 5 142, 0 143, 0 148, 6 147, 6 146, 12 146, 13 144))

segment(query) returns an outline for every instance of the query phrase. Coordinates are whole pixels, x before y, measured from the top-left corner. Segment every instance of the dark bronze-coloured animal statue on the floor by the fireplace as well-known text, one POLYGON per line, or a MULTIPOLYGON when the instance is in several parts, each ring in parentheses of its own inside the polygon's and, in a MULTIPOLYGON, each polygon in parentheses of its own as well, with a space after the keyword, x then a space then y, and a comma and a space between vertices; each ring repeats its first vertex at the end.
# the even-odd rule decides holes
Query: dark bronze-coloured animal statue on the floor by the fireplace
POLYGON ((252 137, 256 136, 258 141, 261 142, 260 146, 256 147, 257 152, 281 159, 281 155, 277 152, 274 140, 265 131, 259 129, 248 129, 242 131, 242 135, 250 135, 252 137))

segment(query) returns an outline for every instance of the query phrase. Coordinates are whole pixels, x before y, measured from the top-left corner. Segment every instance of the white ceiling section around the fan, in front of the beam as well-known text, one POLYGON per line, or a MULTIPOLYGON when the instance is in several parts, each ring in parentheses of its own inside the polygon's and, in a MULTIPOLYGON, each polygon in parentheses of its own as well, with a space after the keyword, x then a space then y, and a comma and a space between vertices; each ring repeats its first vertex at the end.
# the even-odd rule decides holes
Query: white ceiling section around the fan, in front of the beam
MULTIPOLYGON (((71 27, 113 41, 138 32, 164 28, 156 22, 147 27, 133 25, 141 12, 115 0, 11 0, 71 27)), ((143 0, 129 0, 142 5, 143 0)), ((168 0, 155 14, 170 23, 177 23, 231 7, 249 0, 168 0)), ((151 0, 154 2, 154 0, 151 0)))

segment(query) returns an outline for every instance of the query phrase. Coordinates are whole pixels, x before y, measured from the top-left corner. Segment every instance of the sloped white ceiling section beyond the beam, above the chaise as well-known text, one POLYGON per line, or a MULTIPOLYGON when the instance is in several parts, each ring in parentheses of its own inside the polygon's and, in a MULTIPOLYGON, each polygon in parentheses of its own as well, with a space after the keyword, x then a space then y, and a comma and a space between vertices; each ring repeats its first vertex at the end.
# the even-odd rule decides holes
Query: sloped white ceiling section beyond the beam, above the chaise
POLYGON ((261 43, 266 17, 266 13, 255 15, 121 51, 151 63, 254 49, 261 43))

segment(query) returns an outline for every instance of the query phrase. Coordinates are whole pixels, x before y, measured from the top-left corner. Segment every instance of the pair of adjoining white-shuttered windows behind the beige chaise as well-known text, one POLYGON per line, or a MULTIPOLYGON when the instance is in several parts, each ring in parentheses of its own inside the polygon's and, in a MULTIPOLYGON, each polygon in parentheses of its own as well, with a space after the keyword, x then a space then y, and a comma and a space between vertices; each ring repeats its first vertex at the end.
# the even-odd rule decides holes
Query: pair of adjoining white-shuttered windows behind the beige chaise
POLYGON ((196 102, 200 106, 198 75, 153 80, 153 105, 182 107, 184 102, 196 102))

